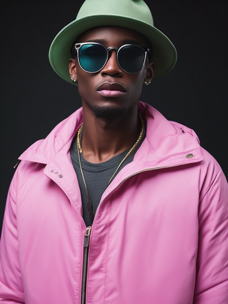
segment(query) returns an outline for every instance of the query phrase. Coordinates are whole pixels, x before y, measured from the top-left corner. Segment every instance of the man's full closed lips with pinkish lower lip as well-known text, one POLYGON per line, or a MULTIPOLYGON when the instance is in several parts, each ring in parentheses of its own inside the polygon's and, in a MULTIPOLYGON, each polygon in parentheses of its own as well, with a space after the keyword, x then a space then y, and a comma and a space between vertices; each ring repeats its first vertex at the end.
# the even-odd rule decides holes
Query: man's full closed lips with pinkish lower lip
POLYGON ((117 82, 104 82, 99 85, 97 92, 106 97, 119 97, 126 94, 126 88, 117 82))

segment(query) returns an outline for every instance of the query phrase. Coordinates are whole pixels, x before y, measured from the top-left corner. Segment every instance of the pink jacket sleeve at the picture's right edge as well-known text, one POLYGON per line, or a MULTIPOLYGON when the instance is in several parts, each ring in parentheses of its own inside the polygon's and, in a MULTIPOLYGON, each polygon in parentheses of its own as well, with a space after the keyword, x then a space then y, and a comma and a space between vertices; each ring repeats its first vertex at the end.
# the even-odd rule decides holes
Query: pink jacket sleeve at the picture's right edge
POLYGON ((228 185, 219 171, 199 204, 193 304, 228 303, 228 185))

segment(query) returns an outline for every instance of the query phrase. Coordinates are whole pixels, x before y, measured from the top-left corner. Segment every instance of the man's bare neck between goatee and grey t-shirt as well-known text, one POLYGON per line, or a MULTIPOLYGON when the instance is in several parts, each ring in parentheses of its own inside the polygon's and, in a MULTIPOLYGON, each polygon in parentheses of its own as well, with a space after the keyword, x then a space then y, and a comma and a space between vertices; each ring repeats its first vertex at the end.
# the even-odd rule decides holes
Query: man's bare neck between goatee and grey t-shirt
POLYGON ((102 163, 130 149, 140 134, 137 103, 128 109, 126 116, 119 119, 101 119, 93 109, 83 103, 82 153, 91 163, 102 163))

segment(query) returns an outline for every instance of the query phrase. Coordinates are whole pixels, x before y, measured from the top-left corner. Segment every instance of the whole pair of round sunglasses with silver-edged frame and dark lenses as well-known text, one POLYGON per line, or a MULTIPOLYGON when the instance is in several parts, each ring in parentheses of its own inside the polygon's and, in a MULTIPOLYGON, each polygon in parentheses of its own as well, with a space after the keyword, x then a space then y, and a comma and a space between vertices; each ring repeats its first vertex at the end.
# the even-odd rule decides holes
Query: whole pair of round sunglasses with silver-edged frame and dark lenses
POLYGON ((147 53, 150 49, 137 44, 124 44, 117 47, 105 47, 101 43, 84 42, 76 43, 72 50, 74 56, 78 54, 78 63, 83 71, 97 73, 102 70, 109 59, 109 51, 115 50, 119 66, 129 74, 137 73, 143 67, 147 53))

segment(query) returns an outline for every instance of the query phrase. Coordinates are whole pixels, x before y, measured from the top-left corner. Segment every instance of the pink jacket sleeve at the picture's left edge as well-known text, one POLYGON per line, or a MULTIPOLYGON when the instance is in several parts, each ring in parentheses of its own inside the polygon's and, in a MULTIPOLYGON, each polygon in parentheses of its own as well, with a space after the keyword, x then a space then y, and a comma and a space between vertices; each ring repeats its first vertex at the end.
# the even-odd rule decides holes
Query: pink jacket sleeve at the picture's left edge
POLYGON ((16 190, 14 185, 17 171, 7 196, 0 241, 0 303, 4 304, 25 303, 16 224, 16 190))

